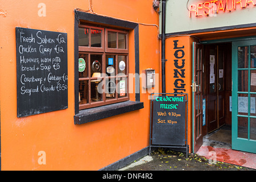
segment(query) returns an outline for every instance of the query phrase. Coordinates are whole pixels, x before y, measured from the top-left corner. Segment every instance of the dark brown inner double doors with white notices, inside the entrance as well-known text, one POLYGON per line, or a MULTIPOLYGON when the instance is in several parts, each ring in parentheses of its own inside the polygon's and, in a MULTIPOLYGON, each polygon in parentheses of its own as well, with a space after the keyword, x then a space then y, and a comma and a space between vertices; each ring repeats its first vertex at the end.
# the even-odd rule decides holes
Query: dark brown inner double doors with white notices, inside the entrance
POLYGON ((208 133, 225 125, 225 61, 227 46, 207 45, 208 64, 208 133))

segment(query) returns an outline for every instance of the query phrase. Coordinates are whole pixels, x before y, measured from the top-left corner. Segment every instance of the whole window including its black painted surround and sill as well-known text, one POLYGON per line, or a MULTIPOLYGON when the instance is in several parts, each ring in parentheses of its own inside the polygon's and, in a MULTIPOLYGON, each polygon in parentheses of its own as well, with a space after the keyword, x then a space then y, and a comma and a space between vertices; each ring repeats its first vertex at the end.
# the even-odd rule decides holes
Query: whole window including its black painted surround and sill
MULTIPOLYGON (((83 11, 75 10, 75 29, 74 30, 75 30, 74 31, 75 32, 74 34, 74 40, 75 40, 74 42, 75 43, 74 123, 75 125, 81 125, 84 123, 97 121, 98 119, 104 119, 104 118, 112 117, 114 115, 128 113, 130 111, 142 109, 144 105, 143 105, 143 102, 140 101, 141 97, 140 97, 140 90, 139 90, 140 88, 139 24, 128 22, 126 20, 120 20, 120 19, 105 17, 105 16, 91 14, 91 13, 85 13, 83 11), (108 25, 108 27, 120 27, 119 28, 120 30, 110 30, 106 27, 100 28, 96 26, 84 26, 84 25, 81 26, 81 24, 84 22, 89 24, 97 24, 97 25, 106 24, 108 25), (128 38, 128 32, 123 31, 124 29, 130 31, 129 38, 128 38), (86 31, 86 34, 85 34, 85 31, 86 31), (110 36, 112 35, 112 32, 115 32, 114 34, 116 35, 116 37, 113 37, 112 35, 112 37, 108 38, 108 32, 110 32, 110 36), (95 37, 96 35, 97 35, 97 39, 95 37), (131 52, 129 52, 128 50, 129 39, 134 42, 133 51, 131 52), (106 46, 108 42, 111 46, 110 45, 106 46), (112 44, 116 45, 116 48, 112 47, 113 46, 112 44), (96 56, 96 55, 101 56, 101 61, 102 61, 101 62, 102 73, 100 72, 101 77, 91 76, 92 68, 90 63, 93 60, 93 56, 96 56), (107 57, 108 55, 112 57, 107 57), (122 60, 124 57, 126 60, 122 60), (128 57, 132 57, 131 60, 129 60, 128 57), (81 61, 80 64, 78 61, 79 58, 82 58, 80 59, 81 61), (108 58, 113 58, 112 67, 114 68, 114 73, 115 73, 114 76, 106 75, 107 73, 106 63, 108 63, 109 61, 108 58), (123 96, 123 90, 127 90, 129 86, 128 79, 127 79, 127 74, 129 73, 129 68, 127 67, 127 65, 129 65, 129 61, 132 61, 134 65, 134 68, 131 68, 131 69, 134 69, 134 72, 131 72, 131 69, 130 69, 130 72, 135 73, 135 79, 133 84, 135 89, 135 101, 130 100, 129 94, 126 94, 127 91, 125 91, 125 95, 123 96), (118 71, 119 65, 121 69, 118 71), (81 69, 80 70, 81 72, 78 71, 79 69, 81 69), (82 69, 84 69, 84 71, 82 71, 82 69), (100 78, 101 80, 98 78, 100 78), (98 87, 99 87, 99 86, 102 86, 100 84, 104 83, 102 82, 102 80, 107 81, 108 78, 114 78, 113 79, 115 83, 114 97, 113 95, 112 97, 108 97, 109 93, 108 93, 108 96, 106 96, 106 92, 105 92, 104 94, 100 95, 102 96, 102 99, 99 97, 101 101, 92 101, 92 99, 94 98, 92 95, 94 94, 92 93, 93 92, 92 85, 96 83, 91 82, 90 80, 100 80, 101 82, 98 83, 98 87), (121 80, 121 78, 124 80, 121 80), (80 81, 83 81, 84 84, 82 83, 80 85, 79 84, 80 81), (81 86, 81 89, 80 89, 80 86, 81 86), (89 89, 89 86, 90 86, 90 89, 89 89), (81 93, 80 93, 80 90, 81 90, 81 93), (84 94, 84 96, 81 96, 82 94, 84 94), (81 103, 81 100, 83 103, 81 103), (121 101, 124 101, 124 102, 121 102, 121 101), (110 104, 110 103, 113 103, 113 104, 110 104), (94 106, 99 106, 99 107, 94 107, 94 106), (85 108, 88 108, 88 109, 85 109, 85 108)), ((110 59, 110 64, 111 62, 112 62, 112 59, 110 59)), ((108 72, 111 72, 111 71, 112 71, 112 68, 109 68, 108 72)), ((110 93, 111 93, 111 90, 113 89, 112 85, 113 83, 110 83, 108 86, 110 93)))

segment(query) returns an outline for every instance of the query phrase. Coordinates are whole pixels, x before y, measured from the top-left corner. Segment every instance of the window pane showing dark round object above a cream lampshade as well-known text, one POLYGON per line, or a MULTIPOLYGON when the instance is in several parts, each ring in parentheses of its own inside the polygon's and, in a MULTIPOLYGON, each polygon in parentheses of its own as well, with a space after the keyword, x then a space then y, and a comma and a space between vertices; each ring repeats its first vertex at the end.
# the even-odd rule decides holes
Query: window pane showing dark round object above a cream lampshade
POLYGON ((100 73, 102 73, 102 55, 90 55, 90 64, 90 76, 100 77, 100 73))

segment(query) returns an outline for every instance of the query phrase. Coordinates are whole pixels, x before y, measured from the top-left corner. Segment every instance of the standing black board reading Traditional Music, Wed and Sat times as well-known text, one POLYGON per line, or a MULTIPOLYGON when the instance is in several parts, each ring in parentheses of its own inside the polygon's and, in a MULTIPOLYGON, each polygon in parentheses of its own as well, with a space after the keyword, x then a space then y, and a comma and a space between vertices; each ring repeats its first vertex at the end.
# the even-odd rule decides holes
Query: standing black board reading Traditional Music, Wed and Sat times
POLYGON ((155 96, 152 103, 152 144, 184 146, 185 96, 155 96))

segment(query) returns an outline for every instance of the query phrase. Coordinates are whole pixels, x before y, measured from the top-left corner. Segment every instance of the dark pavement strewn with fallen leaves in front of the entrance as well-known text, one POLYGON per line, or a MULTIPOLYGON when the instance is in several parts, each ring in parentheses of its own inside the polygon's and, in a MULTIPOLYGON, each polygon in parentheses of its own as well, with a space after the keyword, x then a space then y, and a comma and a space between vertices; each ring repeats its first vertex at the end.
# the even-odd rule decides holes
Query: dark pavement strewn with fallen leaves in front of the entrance
POLYGON ((203 156, 158 148, 119 171, 256 171, 253 168, 218 162, 203 156))

